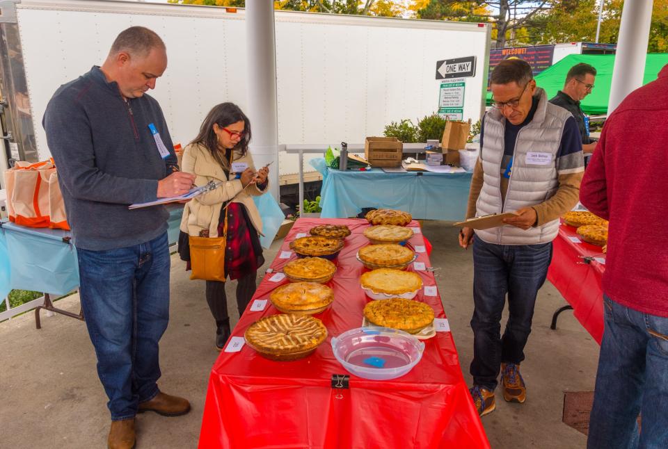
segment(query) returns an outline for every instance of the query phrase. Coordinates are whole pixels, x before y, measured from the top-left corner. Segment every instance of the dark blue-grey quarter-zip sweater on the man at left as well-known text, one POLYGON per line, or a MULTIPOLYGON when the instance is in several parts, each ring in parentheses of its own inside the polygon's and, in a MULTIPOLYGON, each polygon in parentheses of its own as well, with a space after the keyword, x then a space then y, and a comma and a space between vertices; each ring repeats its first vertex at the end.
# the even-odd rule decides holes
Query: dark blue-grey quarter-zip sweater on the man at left
POLYGON ((129 211, 156 199, 158 180, 177 167, 158 102, 149 95, 126 104, 100 67, 62 85, 42 120, 58 169, 74 245, 113 250, 156 238, 167 229, 164 206, 129 211), (153 123, 168 158, 161 158, 148 127, 153 123))

